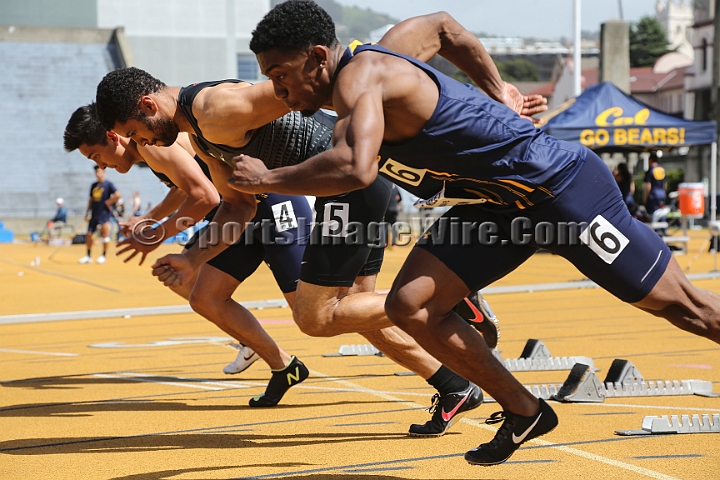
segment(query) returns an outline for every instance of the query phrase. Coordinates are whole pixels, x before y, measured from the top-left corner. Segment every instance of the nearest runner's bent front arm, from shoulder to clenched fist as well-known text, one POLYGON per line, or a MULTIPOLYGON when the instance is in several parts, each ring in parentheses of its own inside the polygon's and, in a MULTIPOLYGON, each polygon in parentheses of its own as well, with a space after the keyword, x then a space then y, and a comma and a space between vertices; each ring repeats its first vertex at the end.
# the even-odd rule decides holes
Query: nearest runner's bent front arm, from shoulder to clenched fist
POLYGON ((383 140, 383 91, 376 72, 354 72, 338 79, 333 105, 338 120, 333 148, 302 163, 268 170, 262 161, 235 157, 232 187, 242 192, 328 196, 358 190, 377 177, 383 140), (342 80, 345 78, 346 80, 342 80), (352 81, 350 80, 352 79, 352 81), (352 83, 344 85, 342 82, 352 83))

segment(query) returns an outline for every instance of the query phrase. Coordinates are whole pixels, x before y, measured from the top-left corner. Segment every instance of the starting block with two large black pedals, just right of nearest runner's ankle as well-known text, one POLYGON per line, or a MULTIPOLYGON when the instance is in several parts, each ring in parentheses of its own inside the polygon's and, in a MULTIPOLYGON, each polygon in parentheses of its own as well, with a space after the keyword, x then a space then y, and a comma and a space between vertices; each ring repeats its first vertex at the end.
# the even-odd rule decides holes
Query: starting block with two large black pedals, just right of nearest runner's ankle
MULTIPOLYGON (((659 397, 699 395, 720 397, 713 392, 712 382, 705 380, 659 380, 646 382, 638 369, 628 360, 613 360, 601 382, 589 365, 575 364, 562 385, 525 385, 537 398, 559 402, 602 403, 606 398, 659 397)), ((494 402, 486 398, 486 402, 494 402)))

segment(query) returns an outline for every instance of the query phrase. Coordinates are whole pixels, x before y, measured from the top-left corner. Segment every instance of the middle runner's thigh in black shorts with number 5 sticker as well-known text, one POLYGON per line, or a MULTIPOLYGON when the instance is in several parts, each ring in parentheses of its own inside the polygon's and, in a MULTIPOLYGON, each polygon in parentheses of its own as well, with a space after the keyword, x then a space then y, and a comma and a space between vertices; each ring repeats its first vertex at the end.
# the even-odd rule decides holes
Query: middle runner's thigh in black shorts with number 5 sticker
POLYGON ((357 276, 375 275, 384 256, 383 216, 390 184, 378 177, 370 186, 318 197, 316 224, 305 249, 300 278, 327 287, 350 287, 357 276))

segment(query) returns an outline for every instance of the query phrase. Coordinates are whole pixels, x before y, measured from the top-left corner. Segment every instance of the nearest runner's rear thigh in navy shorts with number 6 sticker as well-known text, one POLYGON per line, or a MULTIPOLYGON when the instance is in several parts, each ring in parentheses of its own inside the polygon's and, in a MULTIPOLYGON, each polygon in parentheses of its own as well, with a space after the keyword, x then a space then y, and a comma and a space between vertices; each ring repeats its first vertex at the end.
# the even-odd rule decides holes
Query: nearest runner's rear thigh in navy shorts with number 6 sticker
POLYGON ((592 152, 575 180, 530 216, 534 225, 547 222, 560 233, 541 246, 625 302, 650 293, 672 257, 665 242, 630 215, 609 169, 592 152))

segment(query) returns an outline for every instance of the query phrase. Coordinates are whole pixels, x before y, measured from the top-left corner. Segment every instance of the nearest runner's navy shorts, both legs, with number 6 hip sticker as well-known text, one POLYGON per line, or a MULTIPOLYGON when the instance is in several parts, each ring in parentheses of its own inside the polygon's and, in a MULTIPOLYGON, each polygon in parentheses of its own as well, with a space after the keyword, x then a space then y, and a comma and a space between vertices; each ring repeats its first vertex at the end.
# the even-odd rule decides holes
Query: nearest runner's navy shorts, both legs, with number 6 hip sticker
POLYGON ((672 256, 657 233, 630 215, 610 170, 590 151, 576 178, 555 198, 512 213, 453 207, 416 247, 437 257, 471 291, 504 277, 543 248, 628 303, 650 293, 672 256))

